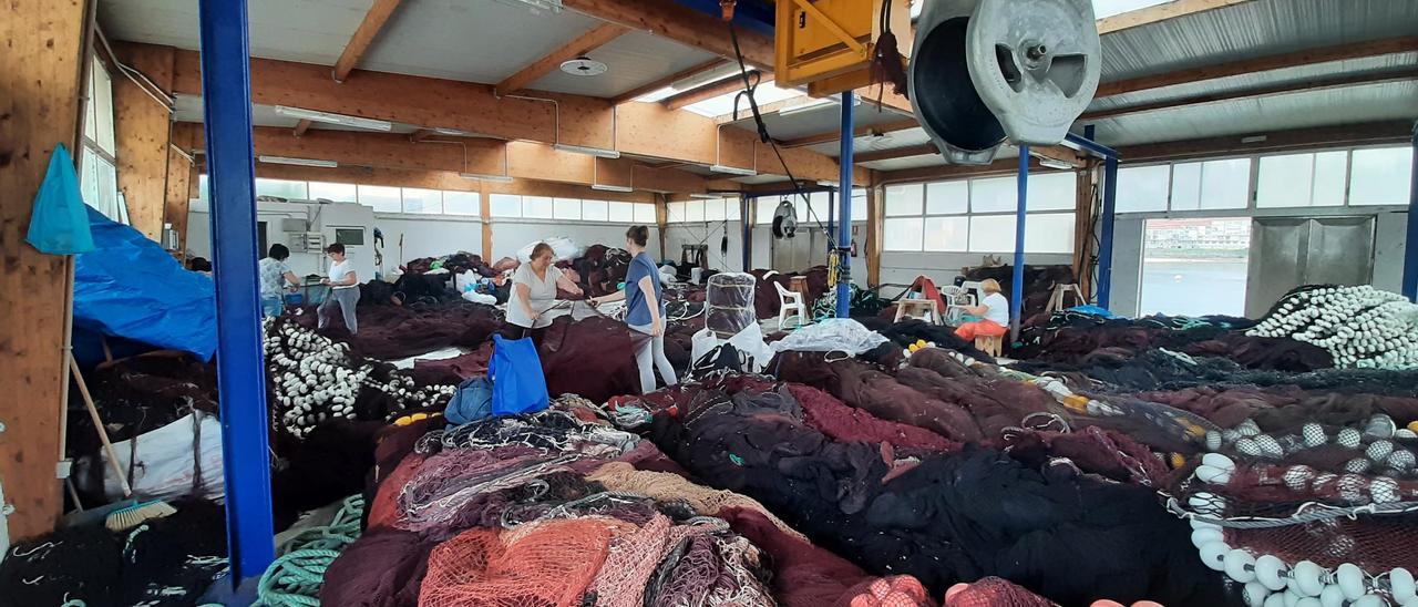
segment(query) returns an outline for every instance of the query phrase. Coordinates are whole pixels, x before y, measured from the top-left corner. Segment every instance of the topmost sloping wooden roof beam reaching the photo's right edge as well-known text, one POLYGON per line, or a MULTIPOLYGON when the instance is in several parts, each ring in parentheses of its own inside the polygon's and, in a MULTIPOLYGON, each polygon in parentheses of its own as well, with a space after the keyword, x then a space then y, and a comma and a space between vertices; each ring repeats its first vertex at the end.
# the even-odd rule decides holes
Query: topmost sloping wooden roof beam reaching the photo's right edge
POLYGON ((1397 52, 1418 51, 1418 35, 1404 35, 1398 38, 1370 40, 1364 43, 1339 44, 1333 47, 1310 48, 1305 51, 1282 52, 1278 55, 1248 57, 1236 61, 1201 65, 1190 69, 1180 69, 1167 74, 1154 74, 1113 82, 1103 82, 1098 87, 1095 98, 1124 95, 1129 92, 1150 91, 1180 84, 1204 82, 1217 78, 1228 78, 1245 74, 1255 74, 1272 69, 1293 68, 1299 65, 1314 65, 1332 61, 1357 60, 1364 57, 1391 55, 1397 52))

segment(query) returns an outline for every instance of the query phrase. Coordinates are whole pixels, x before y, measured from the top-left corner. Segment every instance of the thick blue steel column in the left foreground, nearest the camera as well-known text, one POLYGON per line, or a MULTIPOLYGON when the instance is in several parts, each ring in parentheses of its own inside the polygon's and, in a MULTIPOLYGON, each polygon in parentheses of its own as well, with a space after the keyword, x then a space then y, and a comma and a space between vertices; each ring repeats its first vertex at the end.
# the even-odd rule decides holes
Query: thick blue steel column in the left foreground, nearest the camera
POLYGON ((217 390, 233 581, 275 559, 265 363, 257 294, 255 166, 247 3, 201 0, 201 96, 217 282, 217 390))

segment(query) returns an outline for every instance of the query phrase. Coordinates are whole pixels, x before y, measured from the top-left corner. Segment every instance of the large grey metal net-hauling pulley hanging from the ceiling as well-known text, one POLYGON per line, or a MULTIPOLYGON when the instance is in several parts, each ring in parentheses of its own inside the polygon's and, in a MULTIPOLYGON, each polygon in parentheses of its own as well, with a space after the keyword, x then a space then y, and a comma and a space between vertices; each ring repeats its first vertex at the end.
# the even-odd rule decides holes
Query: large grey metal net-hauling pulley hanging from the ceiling
POLYGON ((987 165, 1000 146, 1058 145, 1098 91, 1089 0, 925 0, 910 104, 947 160, 987 165))

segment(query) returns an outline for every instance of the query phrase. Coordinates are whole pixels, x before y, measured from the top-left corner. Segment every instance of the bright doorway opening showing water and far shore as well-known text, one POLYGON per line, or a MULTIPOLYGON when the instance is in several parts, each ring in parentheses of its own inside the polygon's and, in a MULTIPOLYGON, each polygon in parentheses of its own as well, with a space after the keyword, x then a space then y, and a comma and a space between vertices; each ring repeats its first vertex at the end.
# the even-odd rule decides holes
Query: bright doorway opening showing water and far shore
POLYGON ((1245 313, 1251 218, 1147 220, 1143 315, 1245 313))

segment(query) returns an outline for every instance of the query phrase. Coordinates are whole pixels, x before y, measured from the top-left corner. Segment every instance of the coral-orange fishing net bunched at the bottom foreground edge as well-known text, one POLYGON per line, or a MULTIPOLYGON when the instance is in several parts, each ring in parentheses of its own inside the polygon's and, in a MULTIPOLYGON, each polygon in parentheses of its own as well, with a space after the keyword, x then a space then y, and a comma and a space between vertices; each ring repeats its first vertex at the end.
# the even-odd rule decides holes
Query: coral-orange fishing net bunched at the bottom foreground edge
POLYGON ((605 562, 601 519, 546 520, 503 538, 472 529, 438 545, 418 593, 424 607, 579 607, 605 562))

